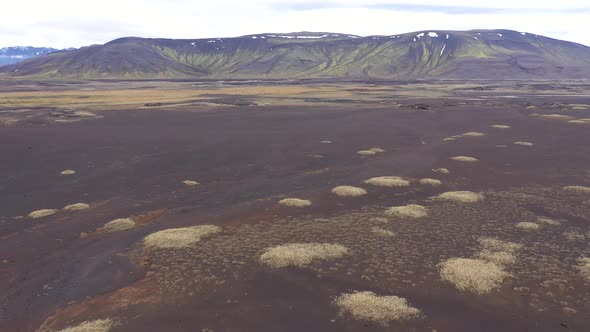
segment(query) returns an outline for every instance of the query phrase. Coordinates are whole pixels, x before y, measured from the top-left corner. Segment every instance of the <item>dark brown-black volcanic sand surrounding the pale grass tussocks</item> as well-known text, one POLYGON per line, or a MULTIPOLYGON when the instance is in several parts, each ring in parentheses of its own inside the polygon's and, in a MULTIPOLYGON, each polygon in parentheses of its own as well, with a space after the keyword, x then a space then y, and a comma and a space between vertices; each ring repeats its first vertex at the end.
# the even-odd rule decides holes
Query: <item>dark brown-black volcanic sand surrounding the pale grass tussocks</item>
POLYGON ((117 111, 0 128, 0 330, 53 331, 101 318, 118 322, 112 331, 590 330, 590 284, 576 269, 590 256, 590 195, 561 189, 590 186, 590 125, 530 116, 555 112, 526 109, 525 99, 495 107, 413 102, 429 109, 117 111), (469 131, 486 135, 442 141, 469 131), (373 147, 386 152, 356 154, 373 147), (449 159, 457 155, 480 161, 449 159), (451 173, 432 172, 440 167, 451 173), (60 175, 65 169, 77 173, 60 175), (412 185, 362 183, 383 175, 412 185), (419 185, 423 177, 443 185, 419 185), (202 185, 187 187, 187 179, 202 185), (337 185, 368 195, 340 198, 330 193, 337 185), (486 198, 429 199, 451 190, 486 198), (279 206, 285 197, 313 205, 279 206), (77 202, 91 208, 24 217, 77 202), (429 216, 375 219, 409 203, 429 216), (539 216, 561 224, 514 226, 539 216), (100 230, 125 217, 137 227, 100 230), (223 231, 185 249, 141 245, 155 231, 198 224, 223 231), (524 245, 507 267, 511 276, 487 295, 442 281, 438 264, 475 257, 482 236, 524 245), (259 263, 265 248, 290 242, 338 243, 350 255, 307 268, 259 263), (423 317, 386 328, 342 316, 332 301, 353 290, 404 297, 423 317))

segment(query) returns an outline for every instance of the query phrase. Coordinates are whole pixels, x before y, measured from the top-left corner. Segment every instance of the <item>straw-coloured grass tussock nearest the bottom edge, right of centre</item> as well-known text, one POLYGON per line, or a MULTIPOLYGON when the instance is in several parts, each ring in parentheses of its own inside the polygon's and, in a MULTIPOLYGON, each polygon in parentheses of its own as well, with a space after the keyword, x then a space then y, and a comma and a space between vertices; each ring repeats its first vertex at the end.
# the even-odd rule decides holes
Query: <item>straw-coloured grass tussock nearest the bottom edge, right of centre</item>
POLYGON ((397 296, 379 296, 373 292, 344 293, 334 301, 342 314, 354 319, 387 325, 420 317, 420 310, 397 296))

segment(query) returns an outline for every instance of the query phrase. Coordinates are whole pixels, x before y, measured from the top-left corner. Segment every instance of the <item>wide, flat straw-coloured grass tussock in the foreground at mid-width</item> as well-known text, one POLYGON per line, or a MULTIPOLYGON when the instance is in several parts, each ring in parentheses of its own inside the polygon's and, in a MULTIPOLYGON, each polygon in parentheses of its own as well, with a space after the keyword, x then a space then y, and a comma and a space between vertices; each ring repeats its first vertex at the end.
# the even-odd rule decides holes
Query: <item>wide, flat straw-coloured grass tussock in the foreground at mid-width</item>
POLYGON ((260 261, 273 268, 305 267, 313 261, 334 260, 346 254, 348 249, 339 244, 291 243, 266 249, 260 261))

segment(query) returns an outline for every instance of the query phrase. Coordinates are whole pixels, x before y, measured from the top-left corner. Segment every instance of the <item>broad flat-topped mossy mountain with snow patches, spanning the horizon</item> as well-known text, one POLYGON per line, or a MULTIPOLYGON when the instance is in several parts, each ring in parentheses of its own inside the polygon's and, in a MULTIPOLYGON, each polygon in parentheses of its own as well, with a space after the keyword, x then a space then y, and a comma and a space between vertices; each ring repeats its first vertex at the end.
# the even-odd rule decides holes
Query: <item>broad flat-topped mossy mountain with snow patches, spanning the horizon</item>
POLYGON ((590 77, 590 47, 511 30, 392 36, 264 33, 236 38, 121 38, 0 67, 31 78, 590 77))

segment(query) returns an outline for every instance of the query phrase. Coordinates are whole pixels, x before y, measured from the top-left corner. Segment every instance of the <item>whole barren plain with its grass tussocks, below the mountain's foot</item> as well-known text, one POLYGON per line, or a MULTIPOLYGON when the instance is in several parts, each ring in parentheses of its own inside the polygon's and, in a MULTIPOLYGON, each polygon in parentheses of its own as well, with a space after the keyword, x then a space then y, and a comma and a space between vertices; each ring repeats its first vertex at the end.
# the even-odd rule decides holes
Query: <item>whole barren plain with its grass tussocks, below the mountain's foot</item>
POLYGON ((589 331, 590 83, 0 81, 0 331, 589 331))

